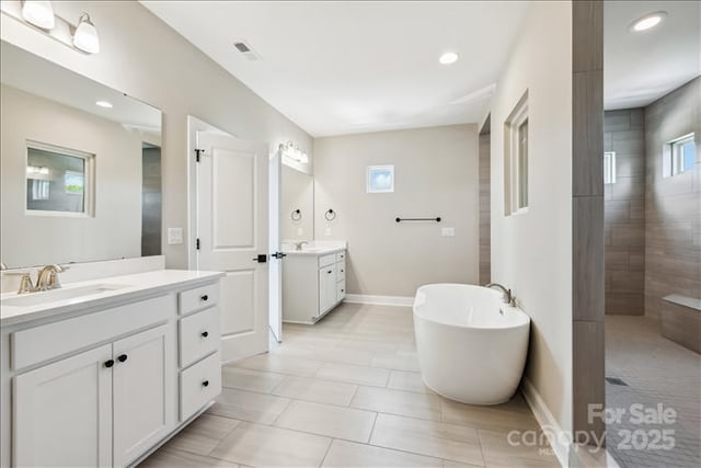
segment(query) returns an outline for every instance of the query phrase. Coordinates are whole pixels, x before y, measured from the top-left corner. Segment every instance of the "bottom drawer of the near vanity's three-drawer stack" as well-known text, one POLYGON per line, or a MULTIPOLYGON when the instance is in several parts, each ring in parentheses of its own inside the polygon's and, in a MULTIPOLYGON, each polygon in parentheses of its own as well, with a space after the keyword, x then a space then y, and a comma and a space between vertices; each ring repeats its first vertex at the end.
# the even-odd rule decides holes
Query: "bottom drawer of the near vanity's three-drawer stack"
POLYGON ((180 373, 180 420, 186 421, 221 392, 221 355, 217 352, 180 373))

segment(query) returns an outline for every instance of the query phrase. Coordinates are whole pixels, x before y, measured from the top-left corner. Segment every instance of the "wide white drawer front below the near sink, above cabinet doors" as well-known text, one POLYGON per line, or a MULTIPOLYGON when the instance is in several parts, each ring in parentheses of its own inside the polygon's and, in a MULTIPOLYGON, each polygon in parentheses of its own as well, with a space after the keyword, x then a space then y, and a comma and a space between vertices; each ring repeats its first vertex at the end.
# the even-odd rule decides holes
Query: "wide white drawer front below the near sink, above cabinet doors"
POLYGON ((12 333, 12 368, 21 369, 175 317, 175 295, 85 313, 12 333))

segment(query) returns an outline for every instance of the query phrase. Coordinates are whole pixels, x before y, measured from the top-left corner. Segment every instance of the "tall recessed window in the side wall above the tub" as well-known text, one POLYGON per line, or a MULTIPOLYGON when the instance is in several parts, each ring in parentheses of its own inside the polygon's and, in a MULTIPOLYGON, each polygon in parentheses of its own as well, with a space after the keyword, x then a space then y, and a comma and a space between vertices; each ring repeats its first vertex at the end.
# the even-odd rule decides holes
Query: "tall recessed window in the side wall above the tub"
POLYGON ((528 91, 504 124, 505 213, 528 210, 528 91))

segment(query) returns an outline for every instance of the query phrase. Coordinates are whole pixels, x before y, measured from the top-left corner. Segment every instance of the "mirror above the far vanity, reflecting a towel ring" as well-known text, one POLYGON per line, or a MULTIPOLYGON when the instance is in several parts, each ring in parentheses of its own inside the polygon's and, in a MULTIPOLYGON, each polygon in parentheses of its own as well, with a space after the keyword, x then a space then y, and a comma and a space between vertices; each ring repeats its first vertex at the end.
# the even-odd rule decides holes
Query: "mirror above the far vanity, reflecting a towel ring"
POLYGON ((283 164, 280 176, 280 232, 283 240, 314 238, 314 180, 311 175, 283 164), (291 213, 301 212, 301 219, 291 213))

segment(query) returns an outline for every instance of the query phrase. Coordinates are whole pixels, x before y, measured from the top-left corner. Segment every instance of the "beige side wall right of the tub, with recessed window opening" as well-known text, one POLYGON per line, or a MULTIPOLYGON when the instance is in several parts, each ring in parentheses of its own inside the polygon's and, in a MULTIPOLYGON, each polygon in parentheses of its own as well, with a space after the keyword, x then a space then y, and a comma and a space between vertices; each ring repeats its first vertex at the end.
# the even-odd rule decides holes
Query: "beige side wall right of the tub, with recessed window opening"
MULTIPOLYGON (((492 128, 492 281, 531 317, 526 378, 572 427, 572 5, 535 2, 497 82, 492 128), (504 122, 529 93, 528 213, 504 216, 504 122)), ((498 34, 498 32, 496 32, 498 34)))

